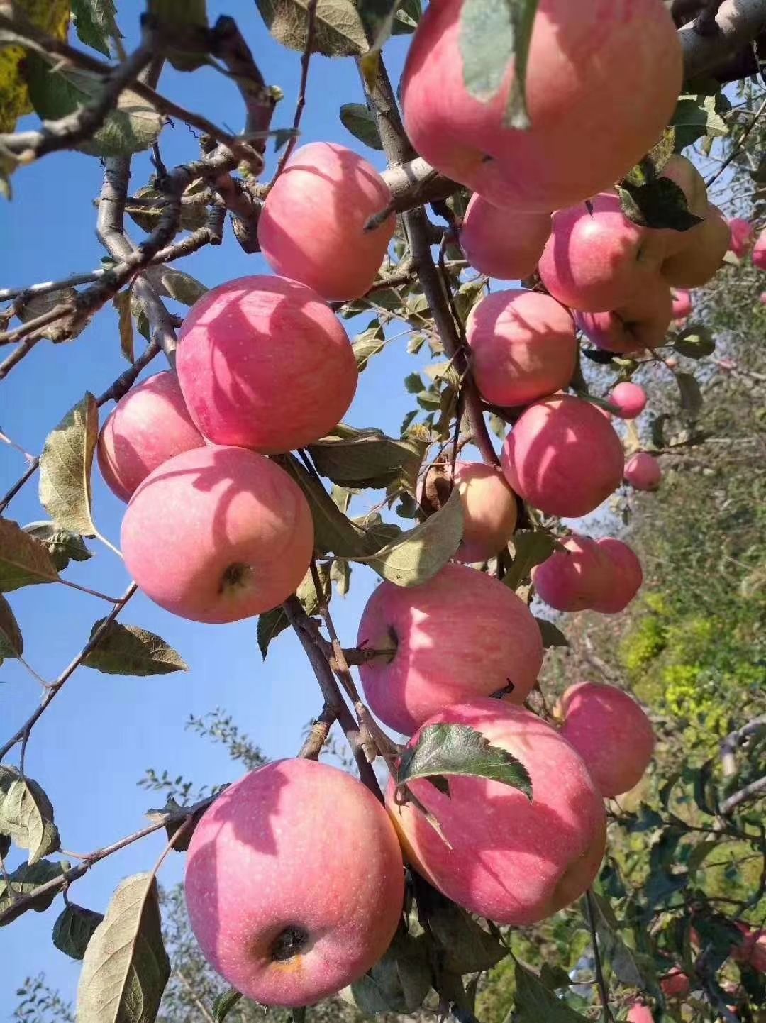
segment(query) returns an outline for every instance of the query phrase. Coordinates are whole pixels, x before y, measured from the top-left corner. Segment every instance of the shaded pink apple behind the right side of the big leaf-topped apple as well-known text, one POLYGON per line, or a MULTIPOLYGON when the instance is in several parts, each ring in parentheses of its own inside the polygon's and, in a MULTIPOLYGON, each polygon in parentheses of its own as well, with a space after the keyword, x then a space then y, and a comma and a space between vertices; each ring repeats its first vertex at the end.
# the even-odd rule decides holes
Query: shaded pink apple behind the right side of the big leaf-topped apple
POLYGON ((612 798, 643 777, 655 751, 655 729, 636 701, 615 685, 578 682, 561 697, 561 736, 585 761, 596 788, 612 798))

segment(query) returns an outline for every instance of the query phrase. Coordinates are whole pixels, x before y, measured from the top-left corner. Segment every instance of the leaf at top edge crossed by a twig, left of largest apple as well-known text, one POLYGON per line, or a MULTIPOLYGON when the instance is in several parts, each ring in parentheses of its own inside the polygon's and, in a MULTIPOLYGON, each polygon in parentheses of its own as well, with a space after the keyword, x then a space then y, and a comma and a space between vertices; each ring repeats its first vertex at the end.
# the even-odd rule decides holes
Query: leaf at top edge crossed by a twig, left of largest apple
MULTIPOLYGON (((309 0, 256 0, 271 35, 282 46, 303 53, 308 35, 309 0)), ((358 56, 369 48, 361 15, 352 0, 319 0, 312 53, 358 56)))

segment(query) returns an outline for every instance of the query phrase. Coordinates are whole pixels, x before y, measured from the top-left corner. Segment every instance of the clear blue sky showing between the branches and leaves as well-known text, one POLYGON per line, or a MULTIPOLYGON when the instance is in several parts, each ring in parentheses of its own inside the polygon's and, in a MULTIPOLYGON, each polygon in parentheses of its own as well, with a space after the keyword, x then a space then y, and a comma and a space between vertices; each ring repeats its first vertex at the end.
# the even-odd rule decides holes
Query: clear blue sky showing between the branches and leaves
MULTIPOLYGON (((135 41, 139 0, 119 3, 128 44, 135 41)), ((237 17, 267 80, 285 94, 275 126, 291 123, 300 74, 300 56, 271 40, 253 0, 224 4, 209 0, 211 19, 230 13, 237 17)), ((74 36, 74 33, 73 33, 74 36)), ((406 42, 394 40, 387 62, 394 82, 401 74, 406 42)), ((168 70, 161 91, 188 108, 237 131, 242 106, 236 89, 209 70, 179 75, 168 70)), ((361 149, 341 125, 341 104, 363 101, 354 61, 312 59, 304 140, 328 139, 361 149)), ((168 165, 197 155, 196 139, 184 125, 167 129, 162 137, 168 165)), ((365 150, 380 163, 380 154, 365 150)), ((273 154, 269 147, 269 171, 273 154)), ((149 165, 134 162, 133 186, 144 184, 149 165)), ((13 177, 12 203, 0 201, 0 281, 2 286, 31 284, 98 266, 102 251, 95 235, 92 205, 100 186, 97 160, 56 153, 13 177)), ((138 236, 140 232, 133 228, 138 236)), ((208 285, 265 270, 260 256, 244 255, 227 228, 225 243, 207 249, 178 264, 208 285)), ((180 311, 180 310, 179 310, 180 311)), ((365 320, 351 332, 363 329, 365 320)), ((399 332, 399 331, 397 331, 399 332)), ((140 340, 137 338, 137 340, 140 340)), ((404 393, 402 377, 415 368, 406 354, 406 337, 393 342, 372 360, 360 377, 357 398, 348 420, 355 426, 377 426, 398 435, 412 397, 404 393)), ((41 342, 0 386, 0 428, 27 451, 37 454, 48 431, 86 390, 100 393, 126 368, 120 354, 116 316, 110 308, 76 341, 59 346, 41 342)), ((161 361, 151 366, 165 368, 161 361)), ((111 407, 111 406, 109 406, 111 407)), ((24 471, 22 457, 0 445, 0 493, 24 471)), ((94 472, 95 519, 102 533, 119 541, 123 505, 106 490, 94 472)), ((22 524, 44 519, 30 483, 6 513, 22 524)), ((119 595, 128 579, 120 561, 93 541, 95 558, 71 565, 67 578, 119 595)), ((162 551, 159 551, 162 557, 162 551)), ((375 577, 354 568, 352 596, 335 598, 333 611, 342 637, 353 644, 356 626, 375 577)), ((37 586, 10 594, 20 623, 26 656, 46 678, 54 678, 88 637, 91 625, 107 606, 63 586, 37 586)), ((141 828, 148 807, 163 797, 137 788, 147 767, 167 768, 197 785, 237 776, 225 752, 184 729, 190 713, 202 715, 220 706, 230 712, 262 749, 273 757, 289 756, 301 744, 303 725, 320 709, 320 695, 308 662, 290 633, 275 640, 266 664, 256 644, 256 620, 227 626, 206 626, 174 618, 139 595, 126 609, 123 621, 159 632, 190 665, 187 674, 149 678, 122 678, 80 669, 56 697, 35 728, 27 752, 27 771, 45 788, 55 807, 64 848, 89 852, 141 828)), ((13 661, 0 666, 0 741, 10 736, 33 710, 39 686, 13 661)), ((120 880, 149 869, 165 838, 152 837, 104 860, 73 887, 73 901, 103 910, 120 880)), ((24 857, 13 850, 14 869, 24 857)), ((162 881, 181 876, 183 858, 173 854, 162 881)), ((27 976, 40 970, 48 981, 74 998, 80 964, 58 952, 50 940, 60 898, 45 914, 28 913, 0 930, 0 1017, 15 1005, 14 991, 27 976)))

